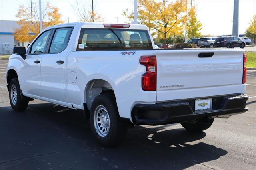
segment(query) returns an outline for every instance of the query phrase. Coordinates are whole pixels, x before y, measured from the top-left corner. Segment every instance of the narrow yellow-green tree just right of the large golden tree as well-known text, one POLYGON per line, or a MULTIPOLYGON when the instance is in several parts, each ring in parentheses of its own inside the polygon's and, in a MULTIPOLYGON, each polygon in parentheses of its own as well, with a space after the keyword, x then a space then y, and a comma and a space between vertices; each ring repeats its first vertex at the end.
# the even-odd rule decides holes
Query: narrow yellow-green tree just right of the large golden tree
POLYGON ((191 7, 190 12, 188 14, 188 38, 196 38, 201 37, 202 34, 200 30, 202 30, 202 23, 196 18, 196 8, 191 7))

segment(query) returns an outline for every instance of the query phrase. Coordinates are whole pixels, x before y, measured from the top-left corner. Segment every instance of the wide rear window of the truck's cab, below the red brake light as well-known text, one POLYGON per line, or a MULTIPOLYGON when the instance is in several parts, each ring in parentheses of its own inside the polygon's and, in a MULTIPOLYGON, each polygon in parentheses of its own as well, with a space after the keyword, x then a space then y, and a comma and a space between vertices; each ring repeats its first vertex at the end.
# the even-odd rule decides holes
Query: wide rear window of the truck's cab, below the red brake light
POLYGON ((147 30, 82 28, 76 51, 153 49, 147 30))

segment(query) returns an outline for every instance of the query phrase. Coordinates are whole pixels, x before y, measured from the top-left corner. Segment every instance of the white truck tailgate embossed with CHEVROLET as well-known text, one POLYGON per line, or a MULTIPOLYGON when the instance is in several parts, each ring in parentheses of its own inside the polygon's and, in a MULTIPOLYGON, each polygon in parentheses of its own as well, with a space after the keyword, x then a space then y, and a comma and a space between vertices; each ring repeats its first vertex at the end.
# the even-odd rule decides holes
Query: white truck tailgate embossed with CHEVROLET
POLYGON ((242 92, 242 49, 158 50, 157 101, 242 92), (214 53, 198 57, 199 53, 214 53))

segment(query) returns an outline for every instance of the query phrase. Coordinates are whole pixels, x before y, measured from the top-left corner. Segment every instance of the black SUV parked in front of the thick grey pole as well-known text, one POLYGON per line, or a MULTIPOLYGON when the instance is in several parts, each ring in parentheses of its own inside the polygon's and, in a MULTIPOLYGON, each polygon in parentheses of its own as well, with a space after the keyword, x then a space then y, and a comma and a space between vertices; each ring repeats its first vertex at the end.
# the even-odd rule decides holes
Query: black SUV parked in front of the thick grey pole
POLYGON ((218 37, 214 42, 215 47, 227 47, 227 48, 234 48, 234 47, 245 47, 245 42, 239 40, 237 37, 218 37))

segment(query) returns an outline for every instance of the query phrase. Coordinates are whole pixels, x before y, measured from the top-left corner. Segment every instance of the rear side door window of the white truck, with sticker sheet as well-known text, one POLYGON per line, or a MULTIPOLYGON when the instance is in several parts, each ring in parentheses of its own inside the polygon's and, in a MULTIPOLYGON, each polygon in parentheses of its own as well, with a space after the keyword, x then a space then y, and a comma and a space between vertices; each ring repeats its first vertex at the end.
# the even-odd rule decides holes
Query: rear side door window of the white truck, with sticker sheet
POLYGON ((71 31, 72 28, 57 28, 54 33, 49 52, 60 53, 63 51, 68 44, 71 31))

